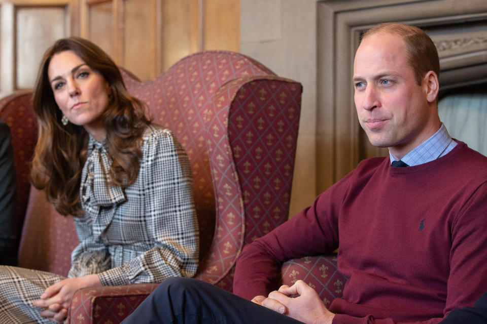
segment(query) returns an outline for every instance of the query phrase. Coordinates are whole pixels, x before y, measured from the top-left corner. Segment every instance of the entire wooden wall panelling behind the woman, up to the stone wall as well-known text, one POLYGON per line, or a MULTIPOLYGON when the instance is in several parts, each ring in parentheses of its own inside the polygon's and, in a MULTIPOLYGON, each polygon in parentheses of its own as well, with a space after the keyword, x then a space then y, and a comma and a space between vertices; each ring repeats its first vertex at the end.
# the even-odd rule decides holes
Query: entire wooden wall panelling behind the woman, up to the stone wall
POLYGON ((142 80, 205 49, 239 51, 239 0, 0 0, 0 98, 31 90, 44 51, 77 35, 142 80))

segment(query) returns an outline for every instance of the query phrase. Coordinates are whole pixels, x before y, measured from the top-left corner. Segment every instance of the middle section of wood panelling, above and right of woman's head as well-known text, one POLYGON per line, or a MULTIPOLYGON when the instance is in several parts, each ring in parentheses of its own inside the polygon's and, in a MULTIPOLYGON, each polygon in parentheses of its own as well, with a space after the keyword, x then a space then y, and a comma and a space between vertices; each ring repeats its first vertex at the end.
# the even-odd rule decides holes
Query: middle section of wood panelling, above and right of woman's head
POLYGON ((80 36, 146 80, 160 74, 162 0, 80 0, 80 36))

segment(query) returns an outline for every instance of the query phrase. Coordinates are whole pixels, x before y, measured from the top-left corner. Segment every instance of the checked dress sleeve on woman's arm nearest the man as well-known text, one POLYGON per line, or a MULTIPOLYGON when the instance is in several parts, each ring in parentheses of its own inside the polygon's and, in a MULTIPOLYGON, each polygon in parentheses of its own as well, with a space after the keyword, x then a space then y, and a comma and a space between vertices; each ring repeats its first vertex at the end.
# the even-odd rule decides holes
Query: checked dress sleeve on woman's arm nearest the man
POLYGON ((123 266, 99 273, 102 285, 160 282, 196 273, 199 235, 191 168, 175 135, 154 132, 143 147, 138 177, 143 190, 141 218, 154 247, 123 266))

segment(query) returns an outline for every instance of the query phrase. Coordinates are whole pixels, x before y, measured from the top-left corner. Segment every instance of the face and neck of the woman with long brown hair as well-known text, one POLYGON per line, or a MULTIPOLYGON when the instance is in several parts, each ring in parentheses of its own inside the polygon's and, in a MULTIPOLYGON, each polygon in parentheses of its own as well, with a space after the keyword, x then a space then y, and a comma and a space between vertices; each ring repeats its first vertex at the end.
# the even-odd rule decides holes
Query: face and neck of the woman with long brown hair
POLYGON ((48 77, 54 99, 70 123, 83 128, 97 141, 105 138, 101 115, 109 103, 110 87, 103 76, 73 51, 51 58, 48 77))

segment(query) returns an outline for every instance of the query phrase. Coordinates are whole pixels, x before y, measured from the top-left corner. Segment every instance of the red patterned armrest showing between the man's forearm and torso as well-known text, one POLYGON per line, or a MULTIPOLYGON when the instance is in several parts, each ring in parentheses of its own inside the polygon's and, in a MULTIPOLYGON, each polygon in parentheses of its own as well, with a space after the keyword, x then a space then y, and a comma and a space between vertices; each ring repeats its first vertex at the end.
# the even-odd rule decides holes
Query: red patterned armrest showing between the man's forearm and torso
POLYGON ((303 280, 314 288, 328 308, 335 298, 343 296, 347 277, 338 272, 336 254, 304 257, 286 261, 281 268, 283 285, 303 280))

